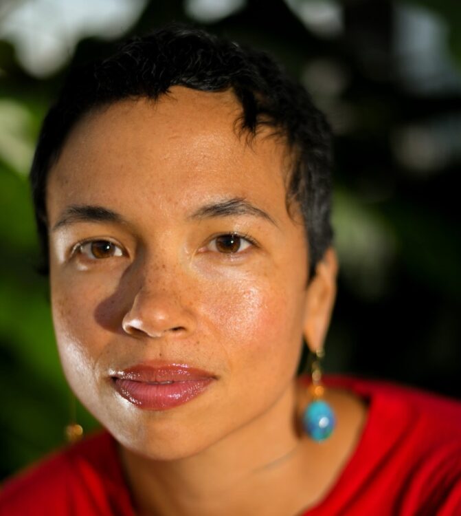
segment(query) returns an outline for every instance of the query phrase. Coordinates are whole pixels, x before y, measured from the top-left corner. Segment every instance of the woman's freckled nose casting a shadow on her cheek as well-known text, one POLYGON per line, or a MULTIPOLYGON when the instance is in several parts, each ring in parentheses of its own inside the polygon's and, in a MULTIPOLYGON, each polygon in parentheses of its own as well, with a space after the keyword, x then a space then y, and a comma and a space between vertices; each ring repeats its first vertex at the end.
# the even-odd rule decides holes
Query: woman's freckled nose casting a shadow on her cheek
POLYGON ((192 306, 185 303, 185 285, 179 276, 170 279, 168 284, 159 275, 150 281, 145 278, 142 283, 122 319, 126 334, 159 338, 194 332, 196 319, 192 306))

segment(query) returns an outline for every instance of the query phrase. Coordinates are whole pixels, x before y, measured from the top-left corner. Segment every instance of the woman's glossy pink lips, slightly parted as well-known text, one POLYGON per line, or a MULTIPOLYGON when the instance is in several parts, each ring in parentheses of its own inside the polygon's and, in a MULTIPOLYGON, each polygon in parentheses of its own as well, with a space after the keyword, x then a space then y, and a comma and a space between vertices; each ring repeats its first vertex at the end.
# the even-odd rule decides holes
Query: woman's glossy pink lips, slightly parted
POLYGON ((120 396, 147 410, 183 405, 216 380, 212 373, 188 365, 153 363, 135 365, 111 376, 120 396))

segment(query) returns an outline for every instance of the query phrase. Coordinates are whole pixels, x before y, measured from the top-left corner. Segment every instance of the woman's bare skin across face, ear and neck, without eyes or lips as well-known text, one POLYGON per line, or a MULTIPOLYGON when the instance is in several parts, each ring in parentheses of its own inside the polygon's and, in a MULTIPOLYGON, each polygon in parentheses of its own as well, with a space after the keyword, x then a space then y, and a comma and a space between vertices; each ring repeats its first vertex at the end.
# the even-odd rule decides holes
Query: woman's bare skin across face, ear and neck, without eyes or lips
POLYGON ((337 260, 329 249, 306 288, 302 219, 285 206, 286 148, 269 131, 249 145, 235 131, 239 114, 230 92, 173 87, 155 103, 124 100, 85 116, 49 175, 60 358, 120 443, 140 514, 299 513, 326 495, 366 416, 361 400, 329 391, 341 421, 333 437, 319 446, 297 432, 302 336, 323 345, 337 260), (235 198, 270 219, 197 215, 235 198), (123 220, 58 224, 74 205, 123 220), (229 233, 253 243, 223 252, 216 237, 229 233), (115 247, 96 259, 91 244, 78 246, 88 240, 115 247), (148 360, 216 380, 180 407, 142 410, 116 393, 111 372, 148 360))

